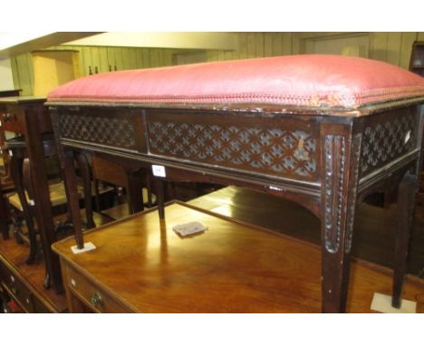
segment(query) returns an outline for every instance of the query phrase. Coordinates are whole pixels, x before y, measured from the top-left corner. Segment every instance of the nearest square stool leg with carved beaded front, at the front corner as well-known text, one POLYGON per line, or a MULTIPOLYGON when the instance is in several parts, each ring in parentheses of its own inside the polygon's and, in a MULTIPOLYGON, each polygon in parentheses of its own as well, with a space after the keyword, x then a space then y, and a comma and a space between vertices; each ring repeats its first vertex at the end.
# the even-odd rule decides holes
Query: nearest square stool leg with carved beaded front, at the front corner
POLYGON ((361 135, 323 135, 323 312, 345 312, 357 199, 361 135), (348 143, 352 140, 352 148, 348 143))

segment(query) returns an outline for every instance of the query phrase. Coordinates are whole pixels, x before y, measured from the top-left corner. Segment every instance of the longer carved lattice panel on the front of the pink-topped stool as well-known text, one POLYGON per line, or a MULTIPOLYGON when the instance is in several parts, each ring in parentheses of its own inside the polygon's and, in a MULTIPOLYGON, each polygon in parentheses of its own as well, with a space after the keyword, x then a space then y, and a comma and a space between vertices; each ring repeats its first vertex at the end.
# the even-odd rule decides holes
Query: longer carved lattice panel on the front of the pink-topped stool
POLYGON ((173 121, 149 123, 149 151, 225 167, 313 176, 316 139, 305 130, 173 121))

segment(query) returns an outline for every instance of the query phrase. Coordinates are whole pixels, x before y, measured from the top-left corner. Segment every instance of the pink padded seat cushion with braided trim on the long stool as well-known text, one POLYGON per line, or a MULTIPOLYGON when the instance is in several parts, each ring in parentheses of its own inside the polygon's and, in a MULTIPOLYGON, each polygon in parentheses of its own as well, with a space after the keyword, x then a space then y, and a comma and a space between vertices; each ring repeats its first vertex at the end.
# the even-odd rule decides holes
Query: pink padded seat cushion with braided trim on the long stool
POLYGON ((55 89, 48 101, 356 108, 421 95, 424 78, 394 65, 317 54, 95 74, 55 89))

